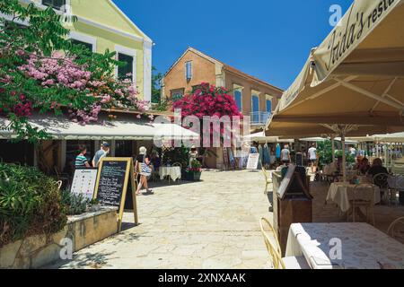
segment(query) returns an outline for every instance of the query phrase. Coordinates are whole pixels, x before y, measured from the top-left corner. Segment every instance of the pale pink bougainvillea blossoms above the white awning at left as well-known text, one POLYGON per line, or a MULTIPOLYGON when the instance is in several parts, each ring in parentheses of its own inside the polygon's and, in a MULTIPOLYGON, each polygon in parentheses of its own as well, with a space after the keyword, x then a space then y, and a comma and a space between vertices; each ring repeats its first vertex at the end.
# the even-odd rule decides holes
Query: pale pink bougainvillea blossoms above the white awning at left
MULTIPOLYGON (((19 66, 22 73, 44 88, 62 86, 94 98, 94 103, 84 109, 68 110, 71 119, 82 125, 97 121, 103 108, 136 109, 141 114, 150 109, 150 102, 138 99, 138 91, 129 79, 117 80, 112 76, 95 79, 85 68, 85 65, 76 65, 75 58, 60 53, 54 53, 52 57, 32 54, 27 64, 19 66)), ((16 106, 17 116, 31 115, 28 105, 27 102, 16 106)))

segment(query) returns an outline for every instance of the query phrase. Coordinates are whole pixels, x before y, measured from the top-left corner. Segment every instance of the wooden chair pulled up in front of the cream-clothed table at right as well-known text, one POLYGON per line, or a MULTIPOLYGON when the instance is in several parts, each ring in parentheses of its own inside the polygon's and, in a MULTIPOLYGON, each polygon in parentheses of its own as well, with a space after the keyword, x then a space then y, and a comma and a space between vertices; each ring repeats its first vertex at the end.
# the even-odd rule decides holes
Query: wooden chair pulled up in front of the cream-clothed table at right
POLYGON ((373 185, 360 185, 354 188, 354 199, 351 200, 352 204, 352 217, 353 222, 356 222, 356 209, 364 207, 366 211, 366 221, 369 221, 369 215, 372 216, 372 223, 375 226, 374 220, 374 195, 376 193, 376 189, 373 185), (362 196, 359 197, 358 193, 360 189, 364 189, 361 191, 362 196))

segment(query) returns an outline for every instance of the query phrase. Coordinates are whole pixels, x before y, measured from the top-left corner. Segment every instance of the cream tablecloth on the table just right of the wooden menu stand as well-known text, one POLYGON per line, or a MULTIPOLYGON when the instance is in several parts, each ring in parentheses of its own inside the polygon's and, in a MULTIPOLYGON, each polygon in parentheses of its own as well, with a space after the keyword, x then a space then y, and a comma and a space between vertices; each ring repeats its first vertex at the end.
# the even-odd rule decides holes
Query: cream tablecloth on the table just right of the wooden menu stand
MULTIPOLYGON (((347 183, 336 182, 332 183, 329 186, 329 194, 327 196, 327 202, 333 202, 338 204, 339 208, 343 213, 347 213, 347 211, 351 208, 349 204, 350 200, 354 199, 354 190, 356 185, 350 185, 347 183)), ((366 187, 358 187, 356 189, 356 199, 361 198, 361 193, 367 192, 369 188, 366 187)), ((374 204, 379 204, 381 202, 380 188, 374 186, 374 204)), ((363 196, 367 198, 367 196, 363 196)))

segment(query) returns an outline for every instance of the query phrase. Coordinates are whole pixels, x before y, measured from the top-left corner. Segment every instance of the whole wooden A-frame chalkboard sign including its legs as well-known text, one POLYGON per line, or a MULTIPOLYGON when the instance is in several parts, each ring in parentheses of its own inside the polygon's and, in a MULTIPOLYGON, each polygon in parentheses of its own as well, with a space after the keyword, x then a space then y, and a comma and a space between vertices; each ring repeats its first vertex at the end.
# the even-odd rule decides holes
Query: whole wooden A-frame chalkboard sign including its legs
POLYGON ((100 162, 94 198, 101 205, 119 208, 119 230, 127 198, 127 188, 131 187, 135 224, 138 224, 136 205, 135 173, 132 158, 103 158, 100 162))

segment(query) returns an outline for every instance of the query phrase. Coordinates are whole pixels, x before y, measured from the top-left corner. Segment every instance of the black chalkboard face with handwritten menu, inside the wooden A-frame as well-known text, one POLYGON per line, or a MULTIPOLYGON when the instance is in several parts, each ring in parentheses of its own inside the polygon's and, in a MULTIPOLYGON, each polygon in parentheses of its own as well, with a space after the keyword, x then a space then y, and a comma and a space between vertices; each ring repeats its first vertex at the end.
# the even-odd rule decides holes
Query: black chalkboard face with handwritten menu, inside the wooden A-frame
POLYGON ((104 161, 97 190, 100 204, 120 207, 126 179, 127 161, 104 161))

